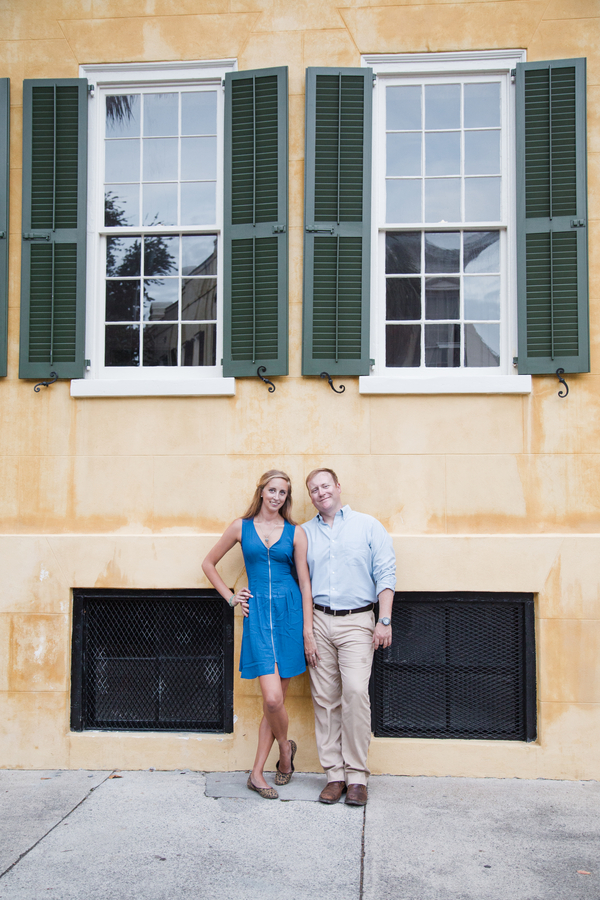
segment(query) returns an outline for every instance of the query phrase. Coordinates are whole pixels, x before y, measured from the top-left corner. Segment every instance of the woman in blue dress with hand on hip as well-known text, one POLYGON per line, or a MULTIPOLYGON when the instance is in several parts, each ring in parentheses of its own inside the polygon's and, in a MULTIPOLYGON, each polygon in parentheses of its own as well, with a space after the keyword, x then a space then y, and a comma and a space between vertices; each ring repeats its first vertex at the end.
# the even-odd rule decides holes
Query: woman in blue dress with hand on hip
POLYGON ((274 740, 279 744, 275 784, 288 784, 294 772, 297 748, 288 740, 284 703, 290 679, 306 669, 303 613, 306 655, 313 665, 317 662, 307 540, 303 529, 292 520, 291 508, 289 477, 277 469, 265 472, 246 513, 231 523, 202 563, 211 584, 230 606, 241 606, 244 614, 240 672, 242 678, 258 678, 264 713, 248 787, 266 800, 279 796, 263 774, 274 740), (248 587, 232 594, 216 566, 238 541, 248 587), (294 578, 294 566, 300 587, 294 578))

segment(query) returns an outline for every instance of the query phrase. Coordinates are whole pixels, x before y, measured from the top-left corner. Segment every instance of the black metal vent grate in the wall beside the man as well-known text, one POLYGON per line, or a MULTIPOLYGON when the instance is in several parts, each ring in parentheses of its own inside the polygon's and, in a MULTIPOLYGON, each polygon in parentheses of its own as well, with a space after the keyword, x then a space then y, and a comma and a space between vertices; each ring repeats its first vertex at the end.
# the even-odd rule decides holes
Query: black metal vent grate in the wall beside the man
POLYGON ((379 737, 534 740, 531 594, 397 594, 373 668, 379 737))

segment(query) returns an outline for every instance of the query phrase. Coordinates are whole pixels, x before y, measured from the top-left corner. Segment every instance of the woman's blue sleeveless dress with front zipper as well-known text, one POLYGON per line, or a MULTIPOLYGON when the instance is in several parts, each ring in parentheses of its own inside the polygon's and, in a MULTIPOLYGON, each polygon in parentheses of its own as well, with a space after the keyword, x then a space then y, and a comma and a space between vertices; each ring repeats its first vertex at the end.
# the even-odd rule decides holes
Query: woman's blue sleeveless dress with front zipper
POLYGON ((252 594, 244 618, 242 678, 272 675, 275 663, 282 678, 300 675, 306 663, 302 594, 292 574, 294 526, 285 522, 279 540, 267 548, 252 519, 242 519, 242 553, 252 594))

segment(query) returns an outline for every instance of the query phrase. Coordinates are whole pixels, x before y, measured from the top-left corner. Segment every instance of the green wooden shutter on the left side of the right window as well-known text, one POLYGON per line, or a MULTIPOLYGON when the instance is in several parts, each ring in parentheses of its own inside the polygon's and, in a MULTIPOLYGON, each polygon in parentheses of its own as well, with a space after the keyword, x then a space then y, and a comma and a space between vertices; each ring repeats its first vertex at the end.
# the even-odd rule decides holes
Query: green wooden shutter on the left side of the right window
POLYGON ((372 69, 306 71, 304 375, 369 374, 372 69))

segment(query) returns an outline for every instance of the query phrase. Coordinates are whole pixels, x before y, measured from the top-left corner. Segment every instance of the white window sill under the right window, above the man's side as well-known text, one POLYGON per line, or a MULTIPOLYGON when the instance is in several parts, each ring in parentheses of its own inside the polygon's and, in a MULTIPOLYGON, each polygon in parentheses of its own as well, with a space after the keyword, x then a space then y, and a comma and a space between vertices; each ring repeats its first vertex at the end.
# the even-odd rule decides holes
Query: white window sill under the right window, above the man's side
POLYGON ((471 378, 363 375, 358 379, 358 389, 361 394, 530 394, 531 375, 471 378))

